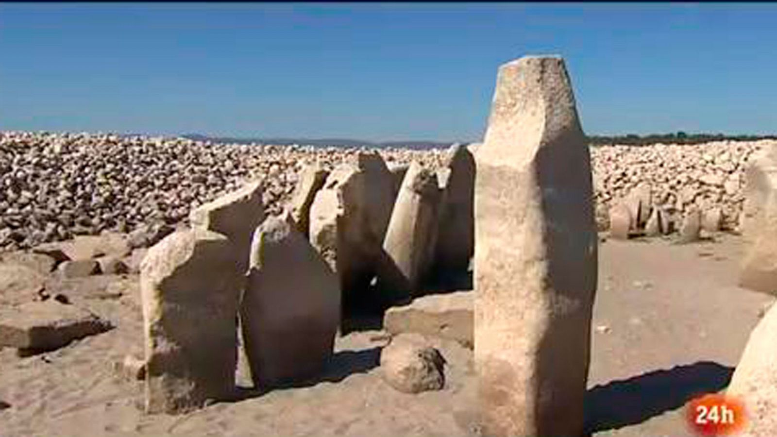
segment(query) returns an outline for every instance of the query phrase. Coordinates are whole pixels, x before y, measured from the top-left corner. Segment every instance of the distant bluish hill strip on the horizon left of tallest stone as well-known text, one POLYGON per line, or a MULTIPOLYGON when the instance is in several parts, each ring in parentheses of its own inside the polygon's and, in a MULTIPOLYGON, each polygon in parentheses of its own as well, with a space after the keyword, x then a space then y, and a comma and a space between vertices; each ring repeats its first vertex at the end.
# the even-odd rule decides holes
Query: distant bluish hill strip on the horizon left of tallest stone
MULTIPOLYGON (((317 147, 375 147, 390 148, 402 147, 404 149, 446 149, 453 142, 433 142, 433 141, 392 141, 392 142, 369 142, 364 140, 355 140, 350 138, 229 138, 229 137, 208 137, 200 134, 181 135, 194 141, 226 142, 235 144, 273 144, 273 145, 313 145, 317 147)), ((462 142, 466 144, 469 142, 462 142)))

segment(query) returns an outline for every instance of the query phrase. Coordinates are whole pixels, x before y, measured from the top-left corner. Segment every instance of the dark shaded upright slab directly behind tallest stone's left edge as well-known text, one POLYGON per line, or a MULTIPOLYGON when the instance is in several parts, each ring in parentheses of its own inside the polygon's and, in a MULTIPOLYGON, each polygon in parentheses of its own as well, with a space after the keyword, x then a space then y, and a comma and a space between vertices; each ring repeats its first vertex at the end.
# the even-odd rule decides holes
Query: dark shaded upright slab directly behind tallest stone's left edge
POLYGON ((466 273, 475 250, 475 159, 463 145, 451 147, 447 158, 434 264, 440 274, 466 273))

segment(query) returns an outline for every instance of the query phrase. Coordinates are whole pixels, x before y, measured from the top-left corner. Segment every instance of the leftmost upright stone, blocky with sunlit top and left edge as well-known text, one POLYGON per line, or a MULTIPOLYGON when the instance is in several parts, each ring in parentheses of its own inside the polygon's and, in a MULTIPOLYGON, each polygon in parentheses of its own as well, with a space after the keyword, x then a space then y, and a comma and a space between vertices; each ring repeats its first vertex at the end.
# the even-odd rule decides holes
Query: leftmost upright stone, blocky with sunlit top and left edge
POLYGON ((141 263, 147 364, 145 409, 186 412, 228 397, 237 362, 243 278, 227 237, 180 230, 141 263))

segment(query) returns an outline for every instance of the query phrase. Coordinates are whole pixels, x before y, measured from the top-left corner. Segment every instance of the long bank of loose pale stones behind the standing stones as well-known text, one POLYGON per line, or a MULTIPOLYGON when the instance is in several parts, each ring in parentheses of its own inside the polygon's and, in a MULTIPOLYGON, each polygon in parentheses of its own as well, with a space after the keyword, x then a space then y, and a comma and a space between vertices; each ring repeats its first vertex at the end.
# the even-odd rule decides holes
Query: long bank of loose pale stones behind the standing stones
MULTIPOLYGON (((591 148, 600 229, 639 184, 653 203, 684 213, 719 207, 723 229, 741 211, 743 164, 769 142, 591 148)), ((0 250, 113 231, 150 246, 186 225, 193 208, 262 179, 267 212, 278 213, 308 163, 325 170, 370 149, 236 145, 185 138, 0 132, 0 250)), ((380 149, 389 166, 443 166, 444 150, 380 149)))

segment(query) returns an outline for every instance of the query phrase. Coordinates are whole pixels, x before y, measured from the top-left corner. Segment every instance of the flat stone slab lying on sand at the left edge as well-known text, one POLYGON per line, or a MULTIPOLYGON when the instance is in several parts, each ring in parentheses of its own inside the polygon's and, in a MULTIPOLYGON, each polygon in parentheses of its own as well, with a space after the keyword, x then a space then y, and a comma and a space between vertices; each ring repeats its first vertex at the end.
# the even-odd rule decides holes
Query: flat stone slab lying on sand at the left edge
POLYGON ((0 306, 0 346, 51 351, 110 329, 111 325, 106 320, 54 299, 0 306))

